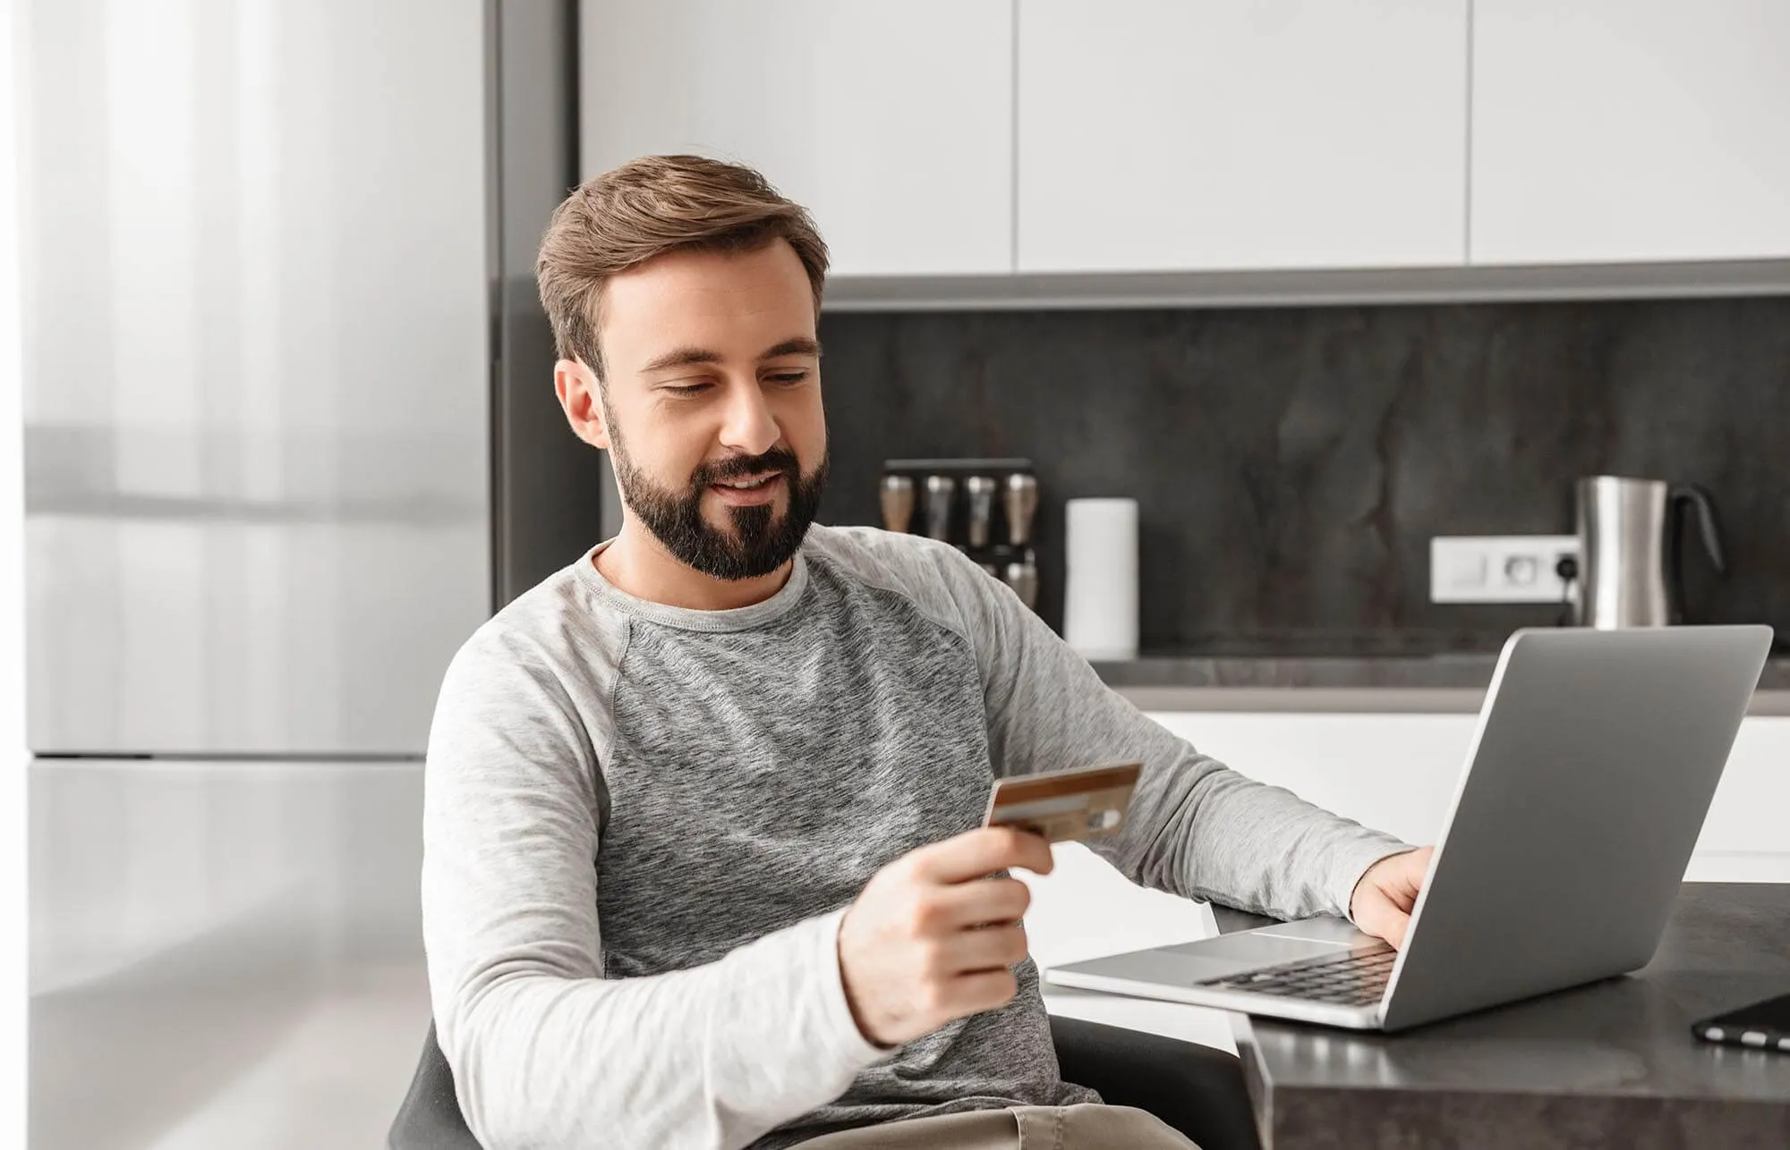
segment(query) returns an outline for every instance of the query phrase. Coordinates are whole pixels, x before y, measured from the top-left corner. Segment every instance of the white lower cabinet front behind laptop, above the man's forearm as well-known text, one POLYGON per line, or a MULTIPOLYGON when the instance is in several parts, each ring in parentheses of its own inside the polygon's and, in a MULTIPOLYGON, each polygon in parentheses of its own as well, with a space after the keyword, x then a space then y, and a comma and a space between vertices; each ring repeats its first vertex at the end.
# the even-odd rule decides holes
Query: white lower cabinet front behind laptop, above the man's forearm
MULTIPOLYGON (((1477 715, 1156 712, 1153 719, 1249 778, 1407 842, 1448 817, 1477 715)), ((1740 726, 1686 878, 1790 882, 1790 717, 1740 726)))

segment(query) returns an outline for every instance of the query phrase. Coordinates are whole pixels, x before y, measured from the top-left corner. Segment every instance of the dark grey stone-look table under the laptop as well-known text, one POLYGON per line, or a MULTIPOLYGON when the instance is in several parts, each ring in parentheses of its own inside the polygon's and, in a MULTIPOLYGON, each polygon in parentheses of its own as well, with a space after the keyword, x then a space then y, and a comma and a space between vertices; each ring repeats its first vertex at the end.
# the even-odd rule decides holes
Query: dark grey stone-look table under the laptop
MULTIPOLYGON (((1269 919, 1214 907, 1219 930, 1269 919)), ((1262 1145, 1785 1146, 1790 1055, 1692 1019, 1790 987, 1790 885, 1684 884, 1625 978, 1403 1034, 1233 1018, 1262 1145)))

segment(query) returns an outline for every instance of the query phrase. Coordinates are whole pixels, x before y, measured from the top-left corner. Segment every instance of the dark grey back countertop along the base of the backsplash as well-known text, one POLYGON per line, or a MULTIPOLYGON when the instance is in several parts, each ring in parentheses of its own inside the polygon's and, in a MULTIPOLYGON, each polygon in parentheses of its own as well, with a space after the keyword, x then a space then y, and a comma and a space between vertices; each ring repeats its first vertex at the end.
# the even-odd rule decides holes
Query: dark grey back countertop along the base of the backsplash
MULTIPOLYGON (((1296 653, 1249 644, 1095 660, 1106 685, 1142 710, 1477 712, 1496 651, 1421 653, 1332 644, 1296 653)), ((1790 715, 1790 655, 1765 664, 1749 714, 1790 715)))

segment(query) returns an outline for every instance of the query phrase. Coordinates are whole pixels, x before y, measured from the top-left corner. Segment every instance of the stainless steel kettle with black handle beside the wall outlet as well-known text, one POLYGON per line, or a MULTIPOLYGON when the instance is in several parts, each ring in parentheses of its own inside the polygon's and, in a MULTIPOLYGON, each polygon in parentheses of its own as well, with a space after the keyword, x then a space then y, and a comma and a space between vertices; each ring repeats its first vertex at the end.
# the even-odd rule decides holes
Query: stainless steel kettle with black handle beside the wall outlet
POLYGON ((1700 486, 1590 476, 1579 479, 1575 490, 1581 579, 1573 594, 1573 619, 1581 626, 1615 630, 1683 622, 1679 538, 1686 508, 1697 512, 1709 562, 1726 571, 1715 504, 1700 486))

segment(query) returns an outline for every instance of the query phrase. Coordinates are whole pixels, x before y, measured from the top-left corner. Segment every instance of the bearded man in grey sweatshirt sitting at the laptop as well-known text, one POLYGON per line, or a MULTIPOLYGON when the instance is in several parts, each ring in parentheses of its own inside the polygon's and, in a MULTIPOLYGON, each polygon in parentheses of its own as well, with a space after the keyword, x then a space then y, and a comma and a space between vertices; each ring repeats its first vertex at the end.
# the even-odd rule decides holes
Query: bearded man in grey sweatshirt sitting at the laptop
POLYGON ((1187 1146, 1060 1078, 1001 876, 1051 851, 979 828, 992 780, 1138 760, 1094 846, 1133 882, 1394 943, 1427 851, 1199 755, 954 549, 811 526, 825 268, 806 211, 700 157, 553 215, 555 388, 625 515, 442 683, 422 905, 460 1105, 490 1150, 1187 1146))

